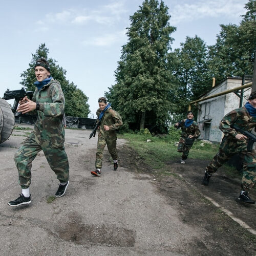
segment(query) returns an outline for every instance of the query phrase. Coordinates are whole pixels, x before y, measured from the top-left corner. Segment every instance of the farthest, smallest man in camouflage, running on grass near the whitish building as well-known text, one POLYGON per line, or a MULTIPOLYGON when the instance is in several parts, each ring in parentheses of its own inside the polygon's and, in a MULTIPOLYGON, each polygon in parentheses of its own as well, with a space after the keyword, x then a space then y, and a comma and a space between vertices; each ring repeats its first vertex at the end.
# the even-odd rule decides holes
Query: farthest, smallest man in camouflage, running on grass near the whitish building
POLYGON ((178 129, 181 128, 181 137, 178 144, 177 151, 182 153, 181 164, 185 163, 190 148, 193 146, 194 140, 201 134, 198 124, 194 121, 194 113, 192 111, 187 112, 187 119, 183 119, 176 123, 174 126, 178 129), (186 138, 191 139, 190 144, 187 144, 186 138))

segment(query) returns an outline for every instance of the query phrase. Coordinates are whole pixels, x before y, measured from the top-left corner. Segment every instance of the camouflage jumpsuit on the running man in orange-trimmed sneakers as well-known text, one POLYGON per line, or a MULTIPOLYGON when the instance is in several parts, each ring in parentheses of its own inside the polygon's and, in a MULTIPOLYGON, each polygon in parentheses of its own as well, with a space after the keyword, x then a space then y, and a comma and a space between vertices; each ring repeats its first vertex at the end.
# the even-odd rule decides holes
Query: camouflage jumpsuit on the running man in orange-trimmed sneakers
MULTIPOLYGON (((99 117, 100 109, 97 110, 96 114, 99 117)), ((98 143, 97 143, 97 153, 96 153, 96 161, 95 167, 96 169, 100 169, 102 167, 102 159, 103 159, 103 150, 105 145, 108 146, 108 150, 113 160, 118 159, 118 154, 116 150, 116 130, 123 124, 121 116, 113 110, 111 107, 107 109, 101 119, 100 127, 99 127, 99 135, 98 135, 98 143), (108 125, 110 127, 109 131, 104 130, 104 125, 108 125)))

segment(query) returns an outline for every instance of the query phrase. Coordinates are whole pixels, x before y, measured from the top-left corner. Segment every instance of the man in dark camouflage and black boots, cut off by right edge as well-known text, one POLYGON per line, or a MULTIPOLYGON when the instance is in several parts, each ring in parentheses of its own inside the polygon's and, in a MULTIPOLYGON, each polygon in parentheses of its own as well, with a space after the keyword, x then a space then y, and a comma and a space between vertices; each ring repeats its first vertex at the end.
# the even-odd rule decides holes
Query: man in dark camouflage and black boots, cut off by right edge
POLYGON ((220 122, 220 129, 224 137, 220 144, 219 152, 206 167, 202 184, 208 185, 212 174, 235 154, 240 154, 243 159, 243 175, 239 200, 254 204, 255 201, 248 196, 250 188, 256 182, 256 153, 255 148, 249 151, 248 138, 237 132, 231 126, 235 124, 244 131, 255 131, 256 124, 256 92, 253 92, 248 102, 239 109, 235 109, 225 115, 220 122))

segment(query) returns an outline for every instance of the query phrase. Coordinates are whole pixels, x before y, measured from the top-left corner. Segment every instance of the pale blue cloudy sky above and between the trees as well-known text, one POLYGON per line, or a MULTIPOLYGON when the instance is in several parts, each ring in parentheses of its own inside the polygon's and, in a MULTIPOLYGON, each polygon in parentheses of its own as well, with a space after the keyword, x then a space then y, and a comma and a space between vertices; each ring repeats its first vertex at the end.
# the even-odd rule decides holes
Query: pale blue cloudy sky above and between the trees
MULTIPOLYGON (((169 24, 172 48, 179 48, 186 36, 198 35, 214 45, 220 24, 239 25, 245 13, 244 0, 165 0, 172 16, 169 24)), ((115 83, 114 71, 126 43, 130 15, 142 0, 8 0, 1 1, 0 97, 6 89, 21 88, 23 73, 41 43, 49 57, 57 60, 73 81, 89 97, 89 117, 95 117, 97 99, 115 83)), ((11 102, 10 102, 11 103, 11 102)))

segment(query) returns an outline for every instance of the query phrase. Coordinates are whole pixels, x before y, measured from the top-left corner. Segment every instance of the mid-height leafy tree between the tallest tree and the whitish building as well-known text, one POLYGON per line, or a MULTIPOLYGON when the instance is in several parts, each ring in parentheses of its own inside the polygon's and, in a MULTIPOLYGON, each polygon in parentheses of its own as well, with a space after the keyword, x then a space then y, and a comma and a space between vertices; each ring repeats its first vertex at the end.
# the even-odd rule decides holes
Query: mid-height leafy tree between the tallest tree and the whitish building
POLYGON ((189 101, 196 100, 211 86, 207 76, 207 46, 197 35, 186 37, 181 48, 175 49, 172 57, 173 74, 179 87, 175 103, 179 106, 177 114, 187 111, 189 101))

